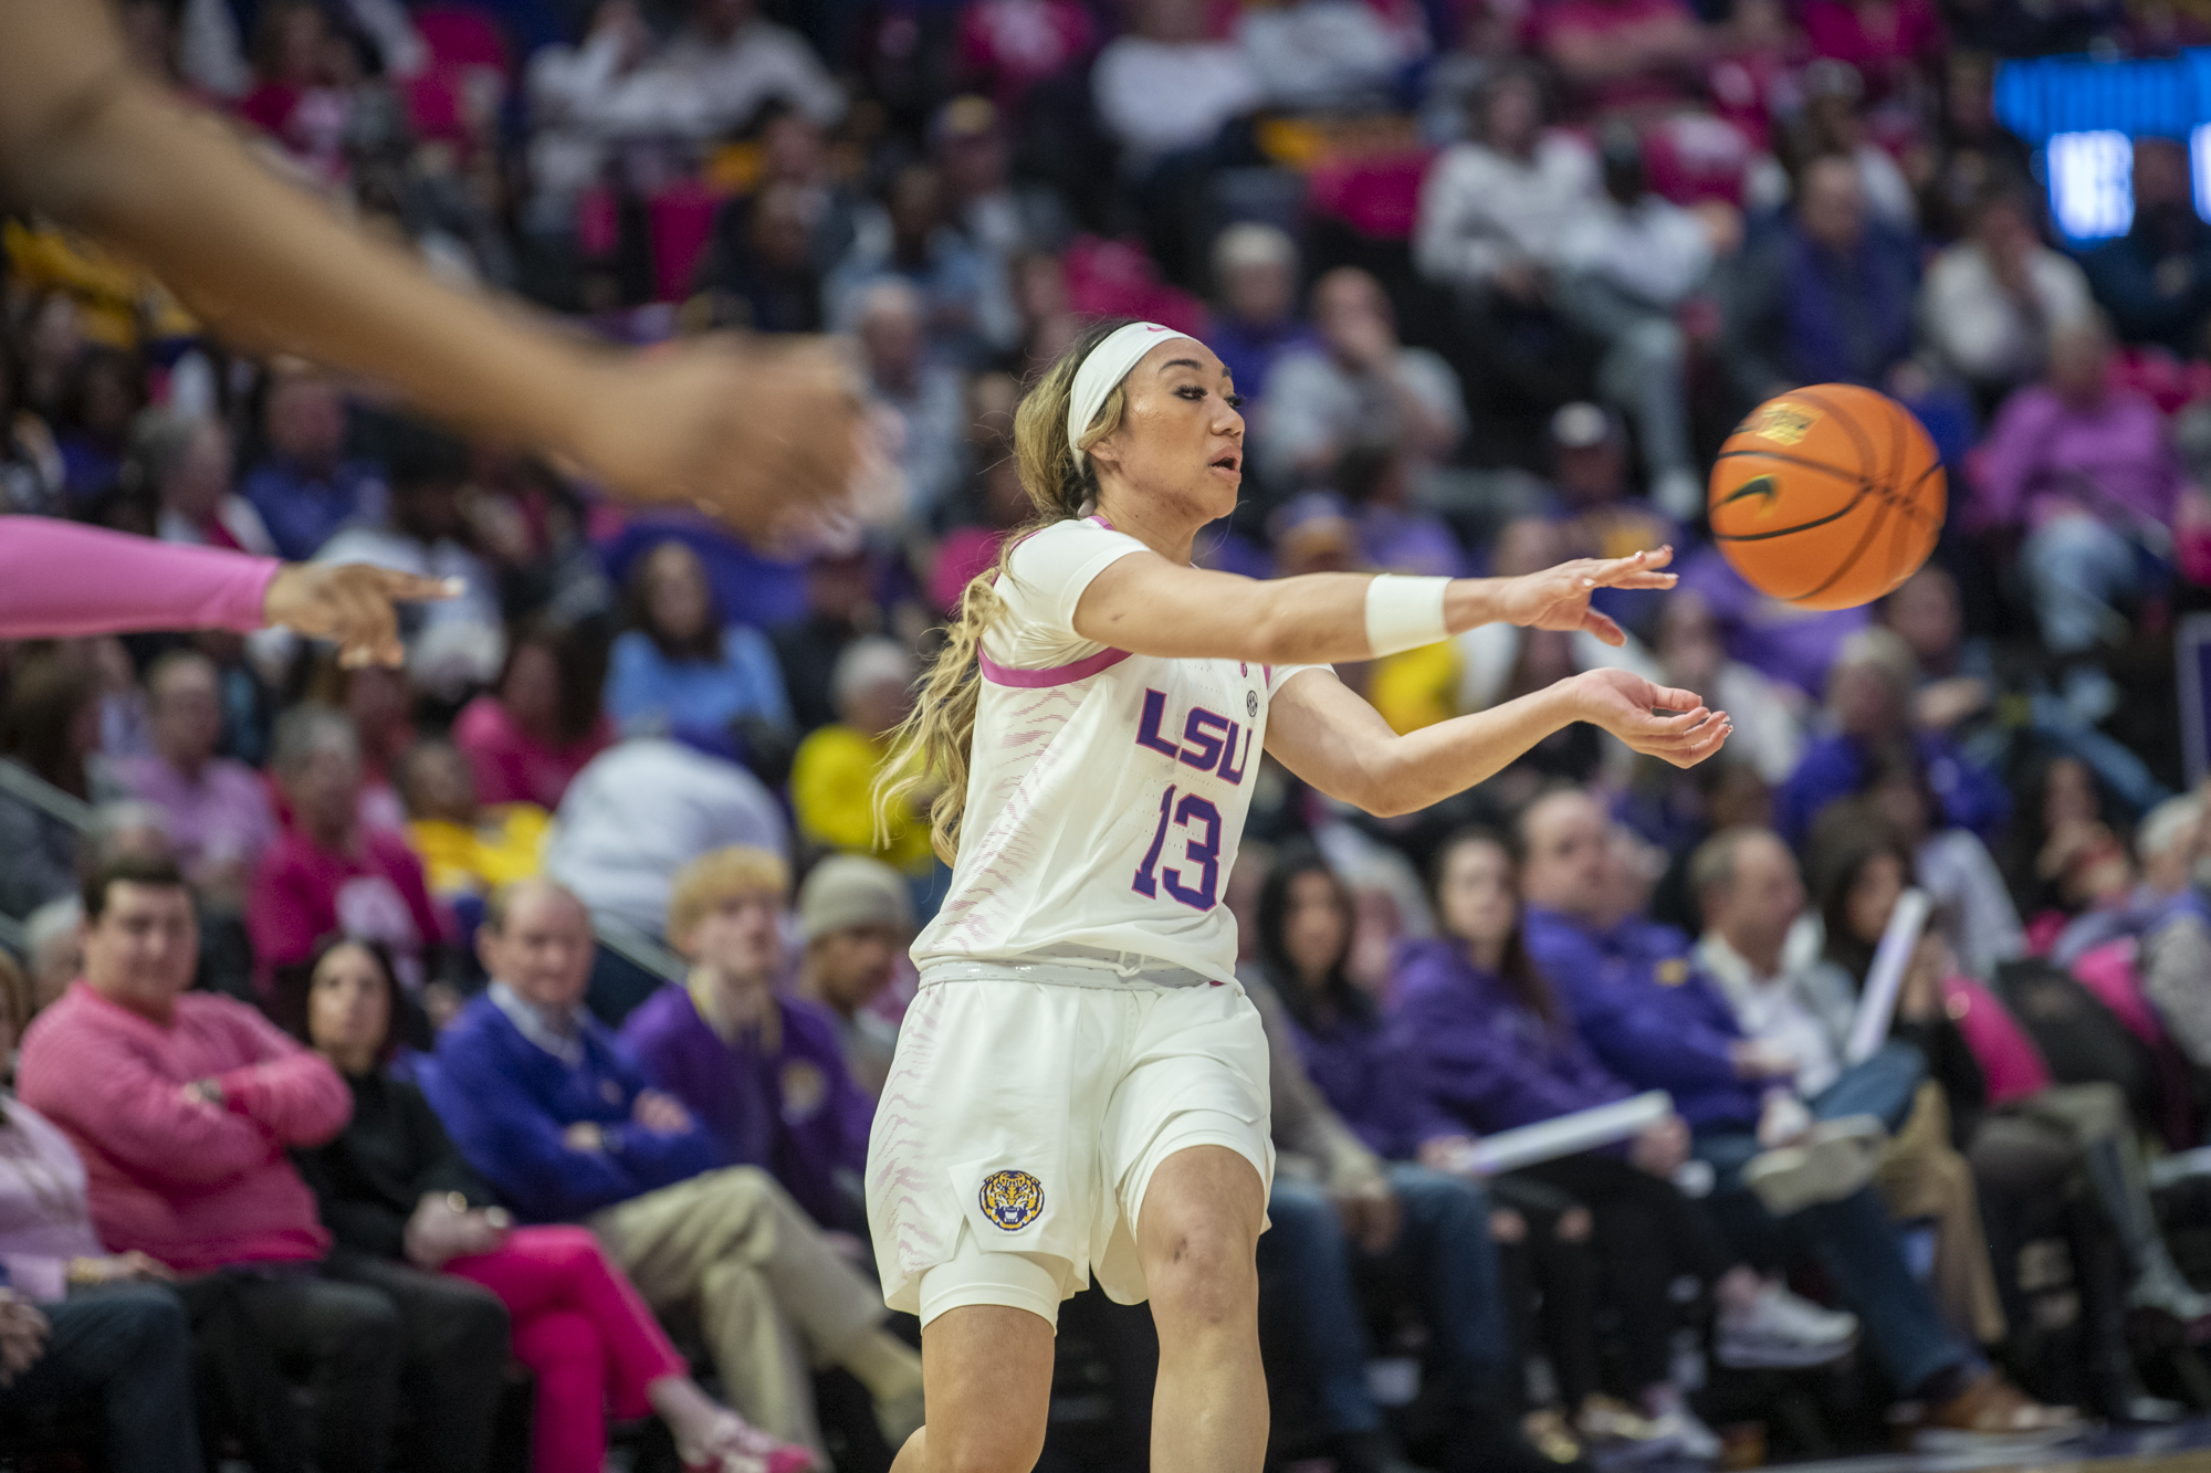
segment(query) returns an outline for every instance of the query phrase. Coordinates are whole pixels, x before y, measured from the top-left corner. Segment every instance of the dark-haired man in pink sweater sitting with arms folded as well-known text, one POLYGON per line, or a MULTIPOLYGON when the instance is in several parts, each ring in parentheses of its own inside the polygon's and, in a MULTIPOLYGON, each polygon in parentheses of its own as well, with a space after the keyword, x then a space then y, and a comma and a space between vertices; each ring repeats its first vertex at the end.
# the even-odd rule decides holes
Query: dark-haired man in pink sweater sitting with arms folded
POLYGON ((188 991, 197 931, 175 865, 97 869, 84 975, 24 1035, 22 1099, 77 1148, 99 1241, 230 1278, 268 1349, 314 1367, 314 1462, 383 1473, 400 1316, 329 1276, 329 1234, 285 1155, 334 1137, 352 1095, 243 1002, 188 991))

